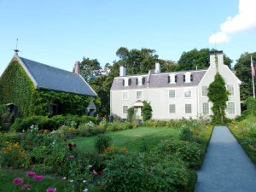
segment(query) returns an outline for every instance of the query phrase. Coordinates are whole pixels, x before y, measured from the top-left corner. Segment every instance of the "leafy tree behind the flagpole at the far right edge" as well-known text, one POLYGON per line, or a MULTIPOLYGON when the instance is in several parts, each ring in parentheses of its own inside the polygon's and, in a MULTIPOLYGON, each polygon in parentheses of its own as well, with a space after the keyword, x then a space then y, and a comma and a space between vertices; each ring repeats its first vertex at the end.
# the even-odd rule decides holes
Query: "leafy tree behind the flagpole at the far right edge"
MULTIPOLYGON (((236 61, 235 70, 236 77, 241 80, 240 98, 241 101, 247 100, 249 96, 253 96, 253 78, 251 70, 251 55, 253 57, 254 66, 256 61, 256 52, 249 54, 248 52, 241 54, 236 61)), ((254 79, 255 83, 255 79, 254 79)))

